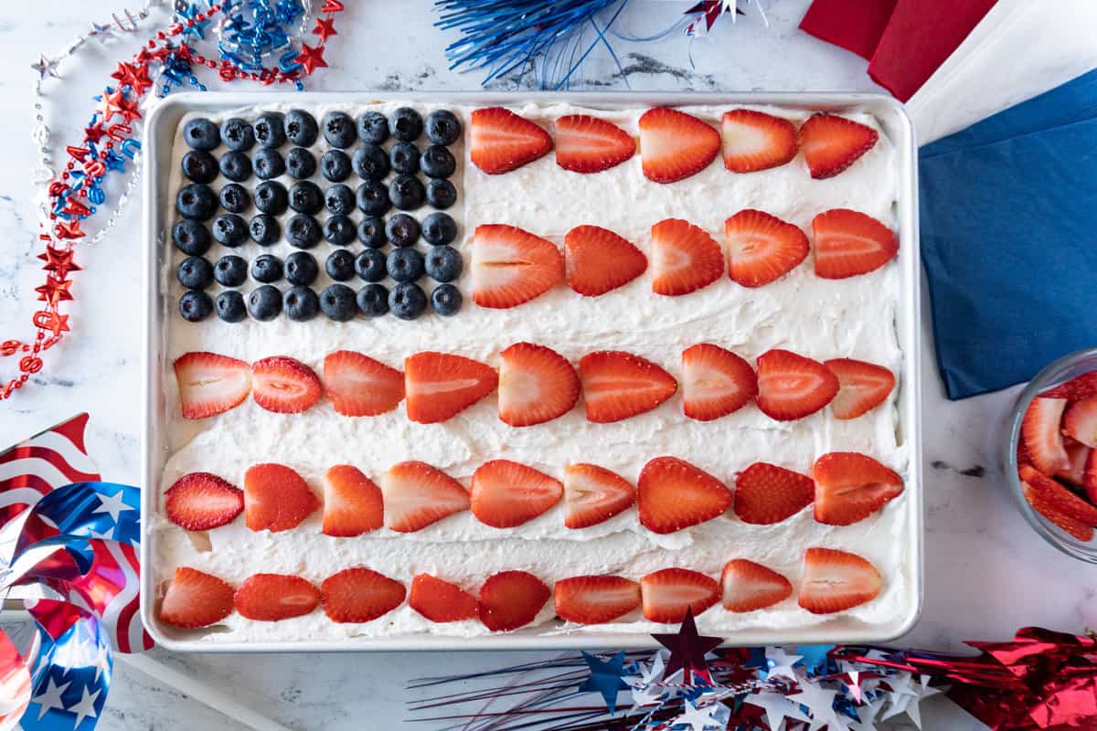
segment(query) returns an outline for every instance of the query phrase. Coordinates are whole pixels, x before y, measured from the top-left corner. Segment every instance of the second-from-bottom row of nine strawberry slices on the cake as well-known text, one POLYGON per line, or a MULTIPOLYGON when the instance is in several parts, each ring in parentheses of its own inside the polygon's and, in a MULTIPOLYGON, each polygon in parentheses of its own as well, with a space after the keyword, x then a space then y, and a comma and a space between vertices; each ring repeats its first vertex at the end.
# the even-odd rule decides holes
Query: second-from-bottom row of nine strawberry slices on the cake
MULTIPOLYGON (((709 472, 677 457, 657 457, 629 480, 598 465, 576 464, 563 481, 509 459, 493 459, 473 472, 470 487, 421 461, 391 467, 378 487, 350 465, 330 468, 324 480, 328 536, 360 536, 382 526, 414 533, 471 510, 494 528, 513 528, 564 503, 564 525, 587 528, 637 505, 640 523, 667 534, 717 518, 728 509, 755 525, 780 523, 814 503, 826 525, 863 521, 903 492, 903 479, 875 459, 833 452, 819 457, 812 477, 755 462, 735 478, 733 492, 709 472), (734 507, 733 507, 734 505, 734 507)), ((188 530, 210 530, 245 513, 251 530, 290 530, 320 507, 308 483, 284 465, 248 468, 244 490, 210 472, 191 472, 166 492, 168 518, 188 530)))

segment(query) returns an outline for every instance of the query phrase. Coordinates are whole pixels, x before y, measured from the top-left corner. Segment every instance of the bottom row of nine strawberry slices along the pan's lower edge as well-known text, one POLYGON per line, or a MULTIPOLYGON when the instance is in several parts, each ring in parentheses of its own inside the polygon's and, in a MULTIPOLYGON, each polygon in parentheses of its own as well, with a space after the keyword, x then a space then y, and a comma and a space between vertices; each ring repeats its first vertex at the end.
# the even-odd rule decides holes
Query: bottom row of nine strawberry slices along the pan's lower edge
MULTIPOLYGON (((872 601, 882 585, 880 572, 864 558, 808 548, 796 601, 813 614, 834 614, 872 601)), ((792 583, 783 574, 747 559, 728 561, 720 581, 671 568, 640 581, 612 575, 562 579, 553 590, 532 573, 502 571, 489 576, 477 596, 427 573, 411 580, 408 595, 403 583, 364 567, 335 573, 318 589, 301 576, 258 573, 235 590, 216 576, 181 567, 168 585, 159 616, 165 623, 192 629, 215 625, 234 609, 247 619, 279 621, 323 606, 331 621, 366 623, 396 609, 406 597, 408 606, 430 621, 478 618, 491 631, 508 631, 532 623, 550 597, 561 619, 597 625, 637 609, 644 619, 657 623, 679 623, 687 609, 699 615, 717 603, 728 612, 756 612, 792 594, 792 583)))

